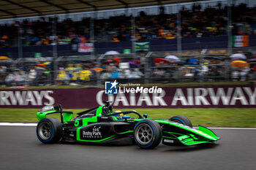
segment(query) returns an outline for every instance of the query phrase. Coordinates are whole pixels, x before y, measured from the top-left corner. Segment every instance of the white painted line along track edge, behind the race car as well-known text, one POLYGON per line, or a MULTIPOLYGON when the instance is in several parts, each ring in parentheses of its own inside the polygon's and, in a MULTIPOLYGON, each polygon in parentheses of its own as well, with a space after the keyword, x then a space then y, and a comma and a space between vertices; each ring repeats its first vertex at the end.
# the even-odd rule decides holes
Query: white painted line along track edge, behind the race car
MULTIPOLYGON (((37 123, 0 123, 0 125, 9 125, 9 126, 37 126, 37 123)), ((198 128, 198 127, 195 127, 198 128)), ((208 127, 211 129, 231 129, 231 130, 256 130, 256 128, 222 128, 222 127, 208 127)))

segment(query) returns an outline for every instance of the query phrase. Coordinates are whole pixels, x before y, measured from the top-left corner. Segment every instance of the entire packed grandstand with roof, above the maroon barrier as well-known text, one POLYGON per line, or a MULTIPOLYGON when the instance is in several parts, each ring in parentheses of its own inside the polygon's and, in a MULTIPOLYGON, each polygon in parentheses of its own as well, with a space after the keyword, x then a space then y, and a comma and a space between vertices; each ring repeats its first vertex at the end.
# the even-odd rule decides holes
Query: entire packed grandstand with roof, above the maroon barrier
POLYGON ((6 58, 0 83, 255 80, 255 7, 249 1, 186 2, 1 1, 0 55, 6 58), (97 15, 108 12, 113 16, 97 15), (242 57, 230 58, 233 53, 242 57), (173 55, 178 59, 168 59, 173 55))

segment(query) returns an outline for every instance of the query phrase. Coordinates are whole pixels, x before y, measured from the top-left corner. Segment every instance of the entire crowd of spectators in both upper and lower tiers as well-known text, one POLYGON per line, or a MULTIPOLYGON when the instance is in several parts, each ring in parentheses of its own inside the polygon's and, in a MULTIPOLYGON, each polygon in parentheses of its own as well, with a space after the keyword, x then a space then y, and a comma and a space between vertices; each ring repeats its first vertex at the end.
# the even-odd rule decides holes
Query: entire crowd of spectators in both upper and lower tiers
MULTIPOLYGON (((232 23, 242 23, 243 28, 231 26, 233 35, 256 34, 256 7, 246 4, 232 6, 232 23)), ((176 14, 167 14, 160 7, 159 15, 147 15, 140 12, 135 18, 135 39, 175 39, 176 14)), ((191 9, 181 7, 181 36, 202 37, 227 34, 227 6, 218 3, 202 9, 194 4, 191 9)), ((132 39, 132 16, 114 16, 108 19, 94 20, 96 41, 129 41, 132 39)), ((89 42, 90 18, 80 21, 70 19, 59 21, 58 18, 42 17, 37 21, 15 21, 11 25, 0 26, 0 47, 18 45, 18 34, 22 35, 23 46, 59 45, 89 42), (56 21, 56 36, 53 36, 53 21, 56 21)), ((168 55, 168 54, 166 54, 168 55)), ((81 61, 61 63, 57 74, 53 72, 53 63, 0 63, 0 85, 84 85, 99 80, 143 81, 214 81, 214 80, 249 80, 256 77, 256 65, 231 66, 233 62, 225 58, 200 58, 189 56, 181 61, 156 60, 159 56, 145 58, 118 58, 110 56, 101 63, 81 61), (121 63, 126 63, 121 65, 121 63), (38 65, 37 65, 38 64, 38 65)))

